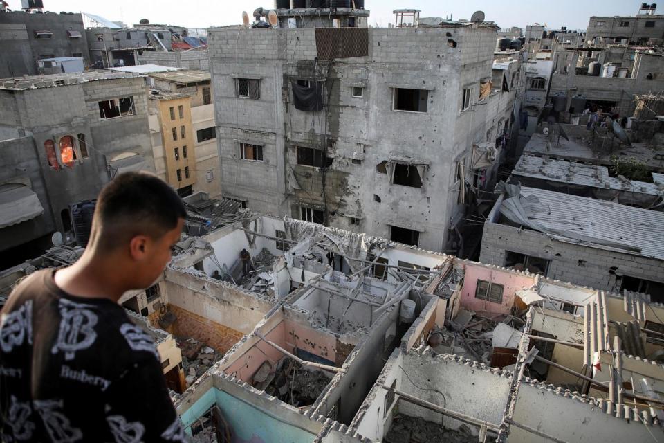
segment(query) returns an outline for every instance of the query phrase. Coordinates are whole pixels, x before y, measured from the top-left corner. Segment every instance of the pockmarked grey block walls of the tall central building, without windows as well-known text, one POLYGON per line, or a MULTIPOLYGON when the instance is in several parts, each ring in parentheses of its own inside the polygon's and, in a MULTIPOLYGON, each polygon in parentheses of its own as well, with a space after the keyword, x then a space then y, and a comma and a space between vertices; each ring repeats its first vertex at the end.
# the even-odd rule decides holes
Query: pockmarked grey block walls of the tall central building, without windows
MULTIPOLYGON (((450 192, 456 175, 454 152, 470 146, 455 145, 454 134, 461 131, 459 137, 465 141, 472 133, 463 125, 459 129, 457 123, 457 102, 463 89, 460 73, 472 78, 479 94, 479 80, 491 76, 495 33, 453 27, 372 28, 367 57, 335 60, 331 65, 314 60, 313 28, 212 28, 209 37, 219 134, 225 132, 223 126, 274 134, 273 144, 264 147, 264 156, 274 150, 269 156, 278 162, 270 171, 275 175, 263 178, 257 186, 250 170, 265 175, 266 165, 243 165, 239 173, 232 159, 227 169, 224 160, 237 155, 239 148, 232 143, 234 136, 219 136, 224 192, 241 188, 229 195, 247 199, 250 208, 264 213, 281 215, 291 213, 294 207, 297 211, 300 203, 306 206, 297 193, 286 198, 290 190, 286 188, 286 170, 297 163, 295 146, 320 148, 327 133, 335 141, 329 152, 335 159, 332 168, 347 174, 346 188, 329 195, 329 200, 339 202, 330 209, 338 214, 331 217, 331 225, 349 227, 349 218, 342 216, 353 215, 361 219, 354 228, 372 235, 389 236, 389 226, 412 228, 421 232, 419 246, 441 250, 457 201, 457 194, 450 192), (457 48, 448 46, 450 38, 455 39, 457 48), (489 39, 492 45, 483 48, 489 39), (329 88, 324 98, 329 103, 320 112, 298 111, 284 81, 313 79, 314 71, 329 88), (236 98, 235 75, 260 78, 261 99, 236 98), (364 86, 363 97, 353 98, 352 87, 358 84, 364 86), (392 111, 395 86, 429 89, 427 114, 392 111), (352 163, 349 156, 360 152, 362 163, 352 163), (423 188, 392 185, 391 179, 376 172, 376 165, 389 159, 389 154, 411 154, 429 161, 423 188), (226 172, 232 173, 231 183, 226 172), (238 175, 243 180, 241 186, 238 175), (379 195, 380 204, 374 193, 379 195)), ((470 124, 470 115, 467 120, 470 124)), ((304 179, 299 185, 318 190, 311 180, 304 179)), ((309 206, 320 204, 318 200, 311 199, 309 206)))

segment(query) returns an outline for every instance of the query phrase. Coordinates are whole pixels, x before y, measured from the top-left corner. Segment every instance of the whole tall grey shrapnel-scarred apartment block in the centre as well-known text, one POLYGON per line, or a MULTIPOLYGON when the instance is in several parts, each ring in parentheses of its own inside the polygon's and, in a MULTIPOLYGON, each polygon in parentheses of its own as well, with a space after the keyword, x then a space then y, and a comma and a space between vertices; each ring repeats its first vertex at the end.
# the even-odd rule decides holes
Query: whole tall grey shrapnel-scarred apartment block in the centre
POLYGON ((307 11, 209 30, 225 197, 458 253, 470 185, 495 182, 512 134, 518 57, 494 65, 491 22, 367 28, 367 10, 307 11))

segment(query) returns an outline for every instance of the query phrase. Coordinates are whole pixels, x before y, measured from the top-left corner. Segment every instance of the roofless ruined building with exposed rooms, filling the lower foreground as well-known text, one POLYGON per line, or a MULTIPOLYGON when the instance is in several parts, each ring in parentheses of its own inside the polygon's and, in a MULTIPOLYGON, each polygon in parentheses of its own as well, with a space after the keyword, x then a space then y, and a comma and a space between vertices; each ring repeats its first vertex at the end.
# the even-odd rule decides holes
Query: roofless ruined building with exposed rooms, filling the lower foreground
POLYGON ((194 442, 664 437, 664 309, 636 293, 245 212, 120 301, 194 442))

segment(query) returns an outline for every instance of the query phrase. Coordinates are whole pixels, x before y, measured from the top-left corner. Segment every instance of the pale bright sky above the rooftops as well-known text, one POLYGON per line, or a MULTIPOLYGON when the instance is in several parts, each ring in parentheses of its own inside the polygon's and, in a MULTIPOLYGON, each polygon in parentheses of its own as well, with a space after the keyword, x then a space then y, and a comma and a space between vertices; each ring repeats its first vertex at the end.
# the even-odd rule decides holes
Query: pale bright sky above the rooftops
MULTIPOLYGON (((20 0, 6 0, 10 8, 19 10, 20 0)), ((635 15, 642 1, 634 0, 365 0, 371 10, 371 25, 387 26, 393 19, 392 10, 415 8, 421 17, 470 19, 476 10, 486 13, 486 20, 499 26, 524 27, 540 23, 551 28, 585 29, 591 15, 635 15)), ((207 28, 240 24, 242 11, 263 6, 273 8, 274 0, 44 0, 46 10, 53 12, 90 12, 111 21, 136 24, 140 19, 152 23, 207 28)), ((664 4, 662 5, 664 8, 664 4)))

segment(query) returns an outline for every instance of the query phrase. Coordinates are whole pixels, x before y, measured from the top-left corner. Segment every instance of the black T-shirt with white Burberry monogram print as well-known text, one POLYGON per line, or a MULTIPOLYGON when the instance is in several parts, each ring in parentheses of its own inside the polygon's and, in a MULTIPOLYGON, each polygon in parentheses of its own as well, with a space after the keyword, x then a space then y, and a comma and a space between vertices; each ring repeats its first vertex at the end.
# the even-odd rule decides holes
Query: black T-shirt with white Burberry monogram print
POLYGON ((37 271, 0 315, 3 442, 186 442, 151 336, 37 271))

